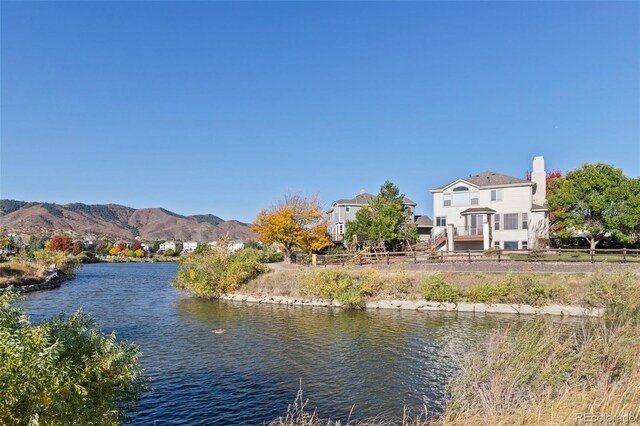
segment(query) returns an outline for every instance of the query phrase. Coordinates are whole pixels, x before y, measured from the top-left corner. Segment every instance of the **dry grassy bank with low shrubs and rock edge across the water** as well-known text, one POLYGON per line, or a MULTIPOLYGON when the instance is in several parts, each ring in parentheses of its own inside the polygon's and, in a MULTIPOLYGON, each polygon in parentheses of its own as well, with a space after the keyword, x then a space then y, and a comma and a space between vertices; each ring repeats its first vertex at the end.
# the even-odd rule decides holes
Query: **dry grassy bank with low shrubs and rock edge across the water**
POLYGON ((301 306, 602 316, 637 287, 633 272, 429 273, 364 269, 274 271, 214 297, 301 306))

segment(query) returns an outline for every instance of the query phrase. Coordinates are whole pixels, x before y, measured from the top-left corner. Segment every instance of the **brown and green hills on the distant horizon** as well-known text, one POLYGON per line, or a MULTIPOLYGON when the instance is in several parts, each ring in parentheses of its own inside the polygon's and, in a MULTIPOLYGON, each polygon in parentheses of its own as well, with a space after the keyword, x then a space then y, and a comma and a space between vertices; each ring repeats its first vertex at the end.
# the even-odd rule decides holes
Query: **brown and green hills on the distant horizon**
POLYGON ((182 216, 162 208, 134 209, 118 204, 55 204, 0 200, 0 225, 24 235, 68 232, 78 238, 215 241, 254 238, 249 225, 212 214, 182 216))

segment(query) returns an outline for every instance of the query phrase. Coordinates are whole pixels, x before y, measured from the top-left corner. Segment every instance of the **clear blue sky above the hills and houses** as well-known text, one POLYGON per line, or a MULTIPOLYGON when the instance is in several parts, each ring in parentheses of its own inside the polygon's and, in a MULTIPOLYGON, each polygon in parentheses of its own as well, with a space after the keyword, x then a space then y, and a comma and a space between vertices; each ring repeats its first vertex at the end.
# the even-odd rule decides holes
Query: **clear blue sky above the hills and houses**
POLYGON ((640 174, 640 3, 7 2, 0 197, 251 221, 389 179, 640 174))

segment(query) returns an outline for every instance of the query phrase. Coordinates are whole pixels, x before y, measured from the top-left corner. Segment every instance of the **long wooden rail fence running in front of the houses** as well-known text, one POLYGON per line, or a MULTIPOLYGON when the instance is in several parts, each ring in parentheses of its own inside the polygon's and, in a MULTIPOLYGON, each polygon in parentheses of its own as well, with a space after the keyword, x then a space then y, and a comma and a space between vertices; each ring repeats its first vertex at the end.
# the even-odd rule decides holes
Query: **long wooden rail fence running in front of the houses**
MULTIPOLYGON (((415 247, 411 251, 383 253, 344 253, 317 255, 316 264, 392 264, 392 263, 473 263, 473 262, 612 262, 640 263, 640 249, 547 249, 547 250, 463 250, 432 251, 415 247)), ((308 262, 308 261, 307 261, 308 262)))

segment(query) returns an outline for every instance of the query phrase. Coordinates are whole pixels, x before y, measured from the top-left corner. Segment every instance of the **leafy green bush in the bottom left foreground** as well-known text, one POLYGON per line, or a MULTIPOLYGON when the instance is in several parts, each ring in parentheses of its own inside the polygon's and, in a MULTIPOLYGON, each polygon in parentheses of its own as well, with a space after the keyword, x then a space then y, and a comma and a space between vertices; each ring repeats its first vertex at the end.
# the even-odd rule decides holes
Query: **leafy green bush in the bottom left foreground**
POLYGON ((138 348, 81 312, 33 324, 0 295, 0 423, 116 425, 145 389, 138 348))

